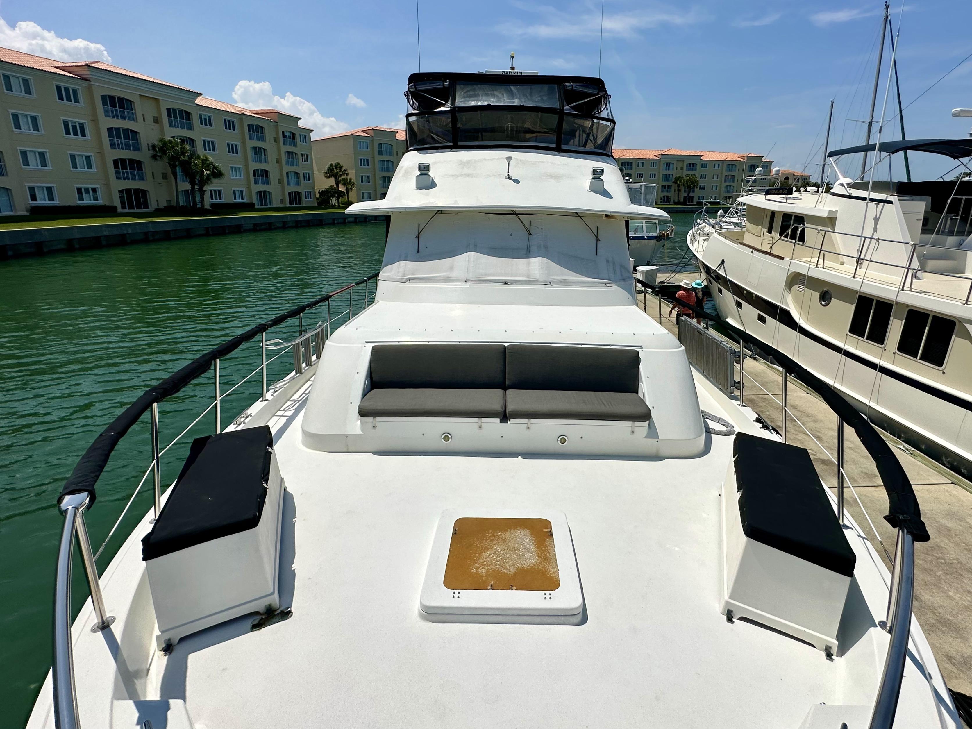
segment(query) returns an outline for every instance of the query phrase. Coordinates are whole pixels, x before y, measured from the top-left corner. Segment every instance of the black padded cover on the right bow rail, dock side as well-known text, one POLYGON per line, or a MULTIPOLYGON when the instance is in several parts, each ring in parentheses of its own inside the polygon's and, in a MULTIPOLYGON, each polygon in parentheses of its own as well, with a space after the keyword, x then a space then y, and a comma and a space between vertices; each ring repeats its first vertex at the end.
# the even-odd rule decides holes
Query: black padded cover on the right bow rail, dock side
MULTIPOLYGON (((731 286, 730 291, 732 291, 731 286)), ((921 507, 918 503, 918 496, 915 495, 915 489, 912 486, 911 479, 908 478, 908 474, 901 466, 901 462, 894 455, 891 446, 887 444, 887 441, 871 425, 871 421, 861 415, 851 405, 851 402, 840 396, 836 390, 805 366, 798 364, 792 358, 784 355, 779 349, 771 347, 749 332, 740 330, 728 322, 712 316, 712 314, 703 308, 682 303, 681 301, 677 301, 673 296, 663 294, 662 297, 668 298, 673 303, 678 303, 679 306, 691 309, 700 317, 718 322, 726 329, 732 330, 736 336, 745 341, 750 347, 759 350, 767 357, 772 357, 783 369, 819 395, 839 418, 853 428, 854 433, 860 438, 860 443, 864 446, 864 450, 867 451, 867 455, 874 461, 874 465, 878 469, 878 474, 881 476, 881 483, 885 487, 885 494, 887 495, 885 521, 895 529, 904 529, 915 541, 928 541, 931 538, 928 534, 928 528, 925 527, 924 522, 921 520, 921 507)))

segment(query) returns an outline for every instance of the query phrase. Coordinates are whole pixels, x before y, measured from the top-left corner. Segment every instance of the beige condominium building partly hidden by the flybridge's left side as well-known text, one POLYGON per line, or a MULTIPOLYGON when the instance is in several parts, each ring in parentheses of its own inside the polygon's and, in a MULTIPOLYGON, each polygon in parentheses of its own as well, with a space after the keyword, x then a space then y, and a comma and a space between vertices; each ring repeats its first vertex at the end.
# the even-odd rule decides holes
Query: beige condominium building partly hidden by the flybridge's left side
POLYGON ((354 202, 380 200, 405 153, 405 132, 391 126, 363 126, 311 142, 318 190, 334 184, 325 177, 331 162, 340 162, 355 181, 354 202))

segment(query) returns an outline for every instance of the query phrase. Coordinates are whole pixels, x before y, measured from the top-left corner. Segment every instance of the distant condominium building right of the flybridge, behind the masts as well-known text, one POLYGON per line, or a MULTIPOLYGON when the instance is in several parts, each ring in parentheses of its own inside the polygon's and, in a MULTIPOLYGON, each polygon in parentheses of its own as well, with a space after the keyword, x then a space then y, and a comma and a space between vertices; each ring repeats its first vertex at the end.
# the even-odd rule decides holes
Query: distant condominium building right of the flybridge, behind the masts
POLYGON ((763 168, 769 171, 772 159, 762 155, 699 150, 614 150, 614 158, 632 182, 658 185, 661 204, 702 200, 732 202, 746 190, 746 178, 763 168), (695 190, 679 189, 677 178, 695 175, 695 190))

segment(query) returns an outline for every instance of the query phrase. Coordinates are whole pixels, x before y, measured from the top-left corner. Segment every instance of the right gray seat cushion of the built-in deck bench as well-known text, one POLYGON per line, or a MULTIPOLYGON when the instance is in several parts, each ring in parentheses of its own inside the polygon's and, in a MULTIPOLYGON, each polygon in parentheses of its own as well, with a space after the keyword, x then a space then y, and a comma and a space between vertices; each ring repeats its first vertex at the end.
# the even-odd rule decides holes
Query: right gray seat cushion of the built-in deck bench
POLYGON ((643 423, 651 419, 651 408, 634 393, 507 390, 506 417, 510 420, 625 420, 643 423))

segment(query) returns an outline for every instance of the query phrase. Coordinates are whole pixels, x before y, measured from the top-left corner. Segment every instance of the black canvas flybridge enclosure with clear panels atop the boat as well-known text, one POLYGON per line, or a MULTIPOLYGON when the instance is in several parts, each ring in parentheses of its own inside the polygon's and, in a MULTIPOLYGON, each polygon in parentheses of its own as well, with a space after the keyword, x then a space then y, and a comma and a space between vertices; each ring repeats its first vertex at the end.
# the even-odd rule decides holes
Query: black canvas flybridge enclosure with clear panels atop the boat
POLYGON ((424 73, 408 77, 409 150, 525 147, 610 155, 601 79, 424 73))

